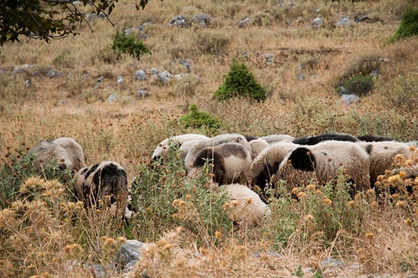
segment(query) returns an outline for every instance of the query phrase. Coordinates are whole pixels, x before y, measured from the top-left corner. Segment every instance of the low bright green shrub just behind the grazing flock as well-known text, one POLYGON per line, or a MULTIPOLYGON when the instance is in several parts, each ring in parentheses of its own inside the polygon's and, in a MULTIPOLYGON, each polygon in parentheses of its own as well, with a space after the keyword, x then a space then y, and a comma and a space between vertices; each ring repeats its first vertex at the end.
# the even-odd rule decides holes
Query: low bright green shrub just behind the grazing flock
POLYGON ((198 111, 196 105, 190 105, 190 112, 180 118, 185 128, 204 128, 210 133, 222 127, 222 121, 208 112, 198 111))

